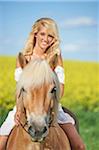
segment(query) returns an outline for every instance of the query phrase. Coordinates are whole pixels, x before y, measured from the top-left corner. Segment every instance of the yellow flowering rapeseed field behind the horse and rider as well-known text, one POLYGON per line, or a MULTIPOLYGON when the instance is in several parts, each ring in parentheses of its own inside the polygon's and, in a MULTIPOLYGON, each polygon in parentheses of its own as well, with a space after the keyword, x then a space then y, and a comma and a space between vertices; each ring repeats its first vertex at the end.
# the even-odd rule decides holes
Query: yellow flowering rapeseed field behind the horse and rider
MULTIPOLYGON (((15 57, 0 57, 0 107, 15 104, 15 57)), ((65 91, 61 103, 99 111, 99 63, 65 61, 65 91)))

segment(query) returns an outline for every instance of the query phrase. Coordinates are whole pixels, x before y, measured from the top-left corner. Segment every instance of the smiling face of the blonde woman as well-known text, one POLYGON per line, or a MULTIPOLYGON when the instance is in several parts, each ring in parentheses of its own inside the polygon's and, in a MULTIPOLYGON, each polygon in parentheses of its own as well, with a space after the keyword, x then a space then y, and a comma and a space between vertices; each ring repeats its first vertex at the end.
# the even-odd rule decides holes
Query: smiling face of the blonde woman
POLYGON ((49 29, 42 26, 36 34, 36 46, 41 48, 44 52, 54 42, 54 37, 50 33, 49 29))

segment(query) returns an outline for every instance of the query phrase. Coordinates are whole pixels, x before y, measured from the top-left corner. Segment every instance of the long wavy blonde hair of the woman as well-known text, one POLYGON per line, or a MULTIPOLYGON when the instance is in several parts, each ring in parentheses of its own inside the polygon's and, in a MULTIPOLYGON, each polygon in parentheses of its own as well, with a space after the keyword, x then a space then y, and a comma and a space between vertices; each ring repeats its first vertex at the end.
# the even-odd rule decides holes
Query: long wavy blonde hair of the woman
POLYGON ((50 34, 54 37, 55 42, 46 50, 46 59, 49 62, 50 66, 53 68, 57 62, 57 56, 60 54, 60 40, 57 25, 55 21, 51 18, 40 18, 34 23, 34 25, 32 26, 32 31, 30 32, 25 47, 23 49, 23 55, 32 55, 36 43, 35 35, 40 30, 41 26, 44 26, 48 30, 50 30, 50 34))

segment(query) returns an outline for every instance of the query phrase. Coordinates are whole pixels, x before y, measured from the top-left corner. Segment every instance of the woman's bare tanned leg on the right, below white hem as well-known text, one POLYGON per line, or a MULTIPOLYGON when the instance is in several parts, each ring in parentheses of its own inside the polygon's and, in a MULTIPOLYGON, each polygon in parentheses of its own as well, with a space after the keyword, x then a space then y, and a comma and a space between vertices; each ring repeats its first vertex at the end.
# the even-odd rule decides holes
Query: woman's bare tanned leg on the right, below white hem
POLYGON ((70 141, 72 150, 85 150, 85 145, 72 123, 60 124, 60 127, 65 131, 70 141))

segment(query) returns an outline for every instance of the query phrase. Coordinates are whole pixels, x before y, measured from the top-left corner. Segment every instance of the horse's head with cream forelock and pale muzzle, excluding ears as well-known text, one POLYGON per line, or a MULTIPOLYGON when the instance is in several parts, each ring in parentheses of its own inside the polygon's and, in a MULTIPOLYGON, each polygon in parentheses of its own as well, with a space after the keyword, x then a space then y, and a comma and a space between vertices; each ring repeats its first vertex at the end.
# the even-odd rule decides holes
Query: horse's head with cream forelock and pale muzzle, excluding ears
POLYGON ((56 120, 59 100, 57 77, 45 60, 35 59, 24 68, 17 93, 18 106, 26 111, 29 134, 34 141, 43 140, 56 120))

